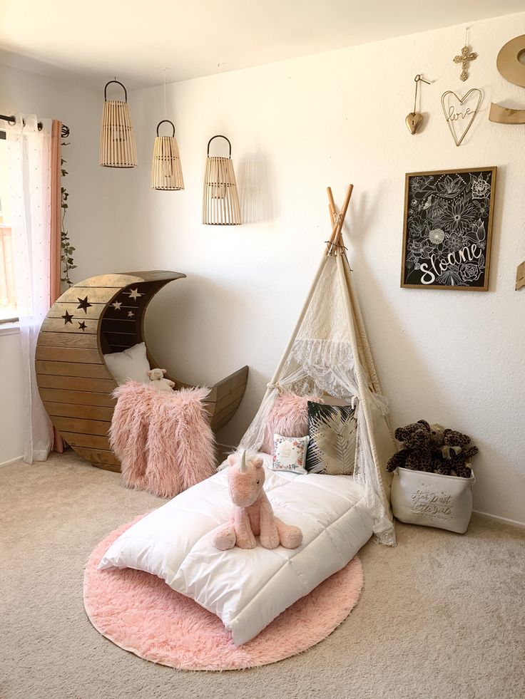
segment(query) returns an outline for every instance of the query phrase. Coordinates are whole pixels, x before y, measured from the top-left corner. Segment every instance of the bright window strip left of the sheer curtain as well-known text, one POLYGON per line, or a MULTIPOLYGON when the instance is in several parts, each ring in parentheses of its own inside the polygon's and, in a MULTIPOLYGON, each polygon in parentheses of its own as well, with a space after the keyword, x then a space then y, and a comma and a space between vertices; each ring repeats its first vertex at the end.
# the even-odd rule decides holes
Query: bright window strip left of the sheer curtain
POLYGON ((6 133, 0 130, 0 323, 17 320, 7 177, 6 133))

